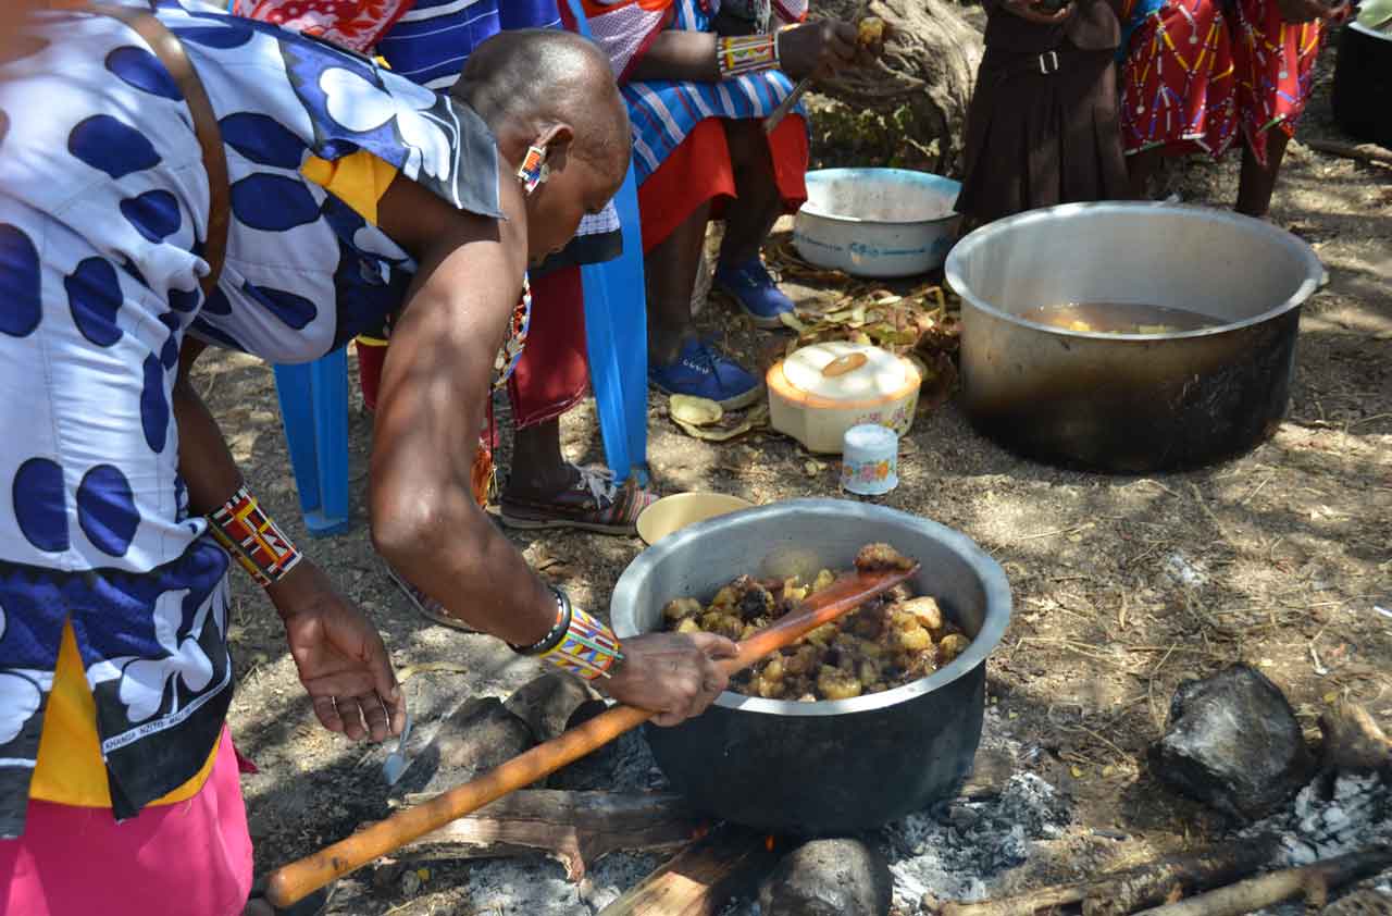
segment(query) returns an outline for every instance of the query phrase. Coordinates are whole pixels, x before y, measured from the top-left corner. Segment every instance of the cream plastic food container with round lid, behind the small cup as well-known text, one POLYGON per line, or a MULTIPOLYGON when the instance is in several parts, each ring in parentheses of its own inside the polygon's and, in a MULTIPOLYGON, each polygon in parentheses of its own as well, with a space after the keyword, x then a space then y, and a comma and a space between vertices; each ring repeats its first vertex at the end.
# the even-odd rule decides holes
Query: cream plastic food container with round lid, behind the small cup
POLYGON ((803 347, 774 363, 767 381, 773 427, 823 454, 841 454, 846 430, 862 423, 908 433, 922 384, 909 359, 846 341, 803 347))

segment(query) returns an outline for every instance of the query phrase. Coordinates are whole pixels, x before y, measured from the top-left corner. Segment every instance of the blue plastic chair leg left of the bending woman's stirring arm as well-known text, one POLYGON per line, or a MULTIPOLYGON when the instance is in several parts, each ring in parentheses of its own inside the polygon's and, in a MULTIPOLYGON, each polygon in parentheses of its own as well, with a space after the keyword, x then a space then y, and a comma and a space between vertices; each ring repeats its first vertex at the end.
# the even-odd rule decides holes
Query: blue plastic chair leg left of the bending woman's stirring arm
POLYGON ((305 528, 315 537, 347 530, 347 349, 309 363, 276 366, 276 393, 305 528))

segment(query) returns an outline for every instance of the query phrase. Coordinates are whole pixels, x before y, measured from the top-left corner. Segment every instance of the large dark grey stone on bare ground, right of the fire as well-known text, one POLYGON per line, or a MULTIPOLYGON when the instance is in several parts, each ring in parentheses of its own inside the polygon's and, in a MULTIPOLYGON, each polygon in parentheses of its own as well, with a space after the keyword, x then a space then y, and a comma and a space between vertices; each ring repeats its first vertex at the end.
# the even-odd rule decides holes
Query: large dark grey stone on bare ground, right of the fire
POLYGON ((1151 748, 1155 775, 1237 820, 1268 814, 1313 774, 1290 703, 1256 668, 1185 681, 1169 717, 1169 731, 1151 748))

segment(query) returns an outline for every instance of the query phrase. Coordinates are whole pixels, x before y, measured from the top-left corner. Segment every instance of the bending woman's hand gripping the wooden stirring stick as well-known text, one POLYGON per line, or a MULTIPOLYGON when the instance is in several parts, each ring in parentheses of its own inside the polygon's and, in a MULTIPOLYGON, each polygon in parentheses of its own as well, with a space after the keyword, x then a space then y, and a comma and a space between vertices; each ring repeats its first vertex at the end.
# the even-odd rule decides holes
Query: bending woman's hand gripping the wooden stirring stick
POLYGON ((732 658, 735 643, 714 633, 649 633, 624 640, 624 661, 603 688, 621 703, 657 713, 658 725, 700 716, 729 678, 715 664, 732 658))

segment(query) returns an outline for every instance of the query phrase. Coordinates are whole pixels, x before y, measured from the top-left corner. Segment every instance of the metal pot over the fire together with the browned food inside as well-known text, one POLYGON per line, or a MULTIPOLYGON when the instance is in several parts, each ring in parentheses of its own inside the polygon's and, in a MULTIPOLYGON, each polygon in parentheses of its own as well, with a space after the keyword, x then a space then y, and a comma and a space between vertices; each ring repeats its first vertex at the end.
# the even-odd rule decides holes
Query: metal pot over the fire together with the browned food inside
MULTIPOLYGON (((956 791, 981 736, 986 658, 1011 615, 1005 574, 966 536, 844 500, 795 500, 700 522, 624 572, 619 638, 657 629, 746 638, 857 555, 922 564, 899 592, 738 677, 700 717, 647 728, 672 787, 770 832, 846 834, 956 791)), ((873 561, 873 558, 871 558, 873 561)))

